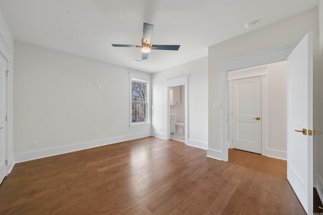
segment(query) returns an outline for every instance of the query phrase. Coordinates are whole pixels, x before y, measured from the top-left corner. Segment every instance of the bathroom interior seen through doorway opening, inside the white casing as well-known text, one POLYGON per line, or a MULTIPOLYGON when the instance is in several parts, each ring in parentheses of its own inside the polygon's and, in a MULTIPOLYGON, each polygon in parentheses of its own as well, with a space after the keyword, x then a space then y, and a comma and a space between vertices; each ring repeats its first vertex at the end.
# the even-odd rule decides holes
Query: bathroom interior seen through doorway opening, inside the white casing
POLYGON ((185 142, 185 86, 170 87, 170 139, 185 142))

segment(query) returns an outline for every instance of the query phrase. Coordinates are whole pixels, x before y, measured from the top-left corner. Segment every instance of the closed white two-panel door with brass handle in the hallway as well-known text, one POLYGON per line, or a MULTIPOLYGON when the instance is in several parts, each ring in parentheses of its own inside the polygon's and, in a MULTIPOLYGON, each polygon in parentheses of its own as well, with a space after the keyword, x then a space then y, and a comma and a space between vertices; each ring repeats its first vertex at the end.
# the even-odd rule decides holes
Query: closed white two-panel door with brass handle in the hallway
POLYGON ((232 84, 233 148, 261 154, 261 77, 232 84))

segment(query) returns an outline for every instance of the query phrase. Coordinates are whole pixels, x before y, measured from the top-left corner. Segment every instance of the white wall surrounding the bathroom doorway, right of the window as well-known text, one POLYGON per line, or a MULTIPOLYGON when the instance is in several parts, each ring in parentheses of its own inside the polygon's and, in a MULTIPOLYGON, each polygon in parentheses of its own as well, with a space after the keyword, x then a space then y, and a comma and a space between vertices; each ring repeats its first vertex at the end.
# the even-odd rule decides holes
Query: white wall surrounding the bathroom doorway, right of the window
POLYGON ((207 146, 207 57, 152 75, 152 131, 166 137, 166 81, 184 76, 188 76, 188 144, 207 146))

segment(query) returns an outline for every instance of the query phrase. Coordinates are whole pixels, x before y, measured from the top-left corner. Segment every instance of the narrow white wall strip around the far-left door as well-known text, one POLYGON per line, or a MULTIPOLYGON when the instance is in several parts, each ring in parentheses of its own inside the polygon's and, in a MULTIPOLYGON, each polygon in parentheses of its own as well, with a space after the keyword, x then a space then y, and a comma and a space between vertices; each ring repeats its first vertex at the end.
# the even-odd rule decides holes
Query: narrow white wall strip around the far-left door
POLYGON ((7 124, 7 132, 8 132, 8 167, 9 171, 14 164, 14 128, 13 128, 13 76, 14 76, 14 38, 10 32, 8 24, 5 20, 3 13, 0 11, 0 34, 4 38, 5 42, 11 49, 11 54, 9 56, 9 64, 8 69, 10 70, 10 74, 8 76, 8 124, 7 124))

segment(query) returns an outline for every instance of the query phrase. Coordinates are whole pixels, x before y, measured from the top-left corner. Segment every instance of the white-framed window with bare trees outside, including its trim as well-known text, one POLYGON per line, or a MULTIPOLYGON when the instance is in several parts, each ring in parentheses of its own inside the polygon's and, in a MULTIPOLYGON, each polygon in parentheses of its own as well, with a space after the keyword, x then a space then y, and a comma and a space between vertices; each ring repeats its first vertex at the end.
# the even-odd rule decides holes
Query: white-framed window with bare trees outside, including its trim
POLYGON ((130 73, 130 126, 150 124, 150 77, 130 73))

